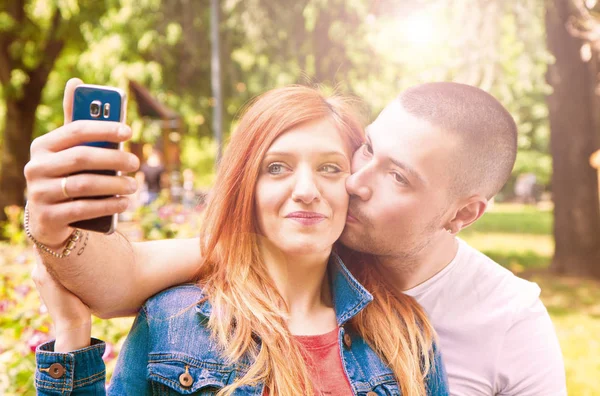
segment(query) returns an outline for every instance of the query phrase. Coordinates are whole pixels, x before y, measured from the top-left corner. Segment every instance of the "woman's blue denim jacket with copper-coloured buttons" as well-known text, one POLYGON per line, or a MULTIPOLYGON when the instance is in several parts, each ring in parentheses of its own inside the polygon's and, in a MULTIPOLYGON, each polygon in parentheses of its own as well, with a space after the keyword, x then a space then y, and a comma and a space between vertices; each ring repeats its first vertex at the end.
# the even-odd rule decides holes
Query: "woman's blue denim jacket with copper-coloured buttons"
MULTIPOLYGON (((335 255, 330 270, 341 357, 354 394, 401 395, 392 371, 346 324, 373 297, 335 255)), ((221 356, 206 326, 210 303, 198 303, 203 297, 202 289, 190 284, 146 301, 119 354, 107 390, 101 341, 93 339, 90 347, 70 353, 52 352, 52 342, 41 345, 36 352, 38 395, 214 395, 242 376, 251 362, 232 365, 221 356)), ((429 395, 449 394, 437 351, 427 388, 429 395)), ((263 391, 264 383, 259 383, 238 388, 235 394, 262 396, 263 391)))

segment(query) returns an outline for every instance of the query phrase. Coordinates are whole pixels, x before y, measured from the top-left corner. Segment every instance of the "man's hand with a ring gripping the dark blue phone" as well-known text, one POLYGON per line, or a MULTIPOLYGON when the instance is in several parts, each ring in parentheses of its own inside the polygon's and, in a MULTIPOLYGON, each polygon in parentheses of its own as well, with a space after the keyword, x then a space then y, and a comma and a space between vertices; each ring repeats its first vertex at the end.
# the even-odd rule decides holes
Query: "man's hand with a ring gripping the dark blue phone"
POLYGON ((61 250, 73 231, 70 223, 123 212, 137 190, 135 179, 82 171, 110 169, 123 173, 139 168, 138 158, 123 150, 89 147, 82 143, 120 143, 131 138, 131 128, 119 122, 73 119, 75 88, 83 84, 71 79, 63 99, 65 124, 31 143, 30 160, 25 165, 29 231, 40 243, 61 250), (94 196, 113 196, 90 199, 94 196), (85 199, 71 199, 85 198, 85 199))

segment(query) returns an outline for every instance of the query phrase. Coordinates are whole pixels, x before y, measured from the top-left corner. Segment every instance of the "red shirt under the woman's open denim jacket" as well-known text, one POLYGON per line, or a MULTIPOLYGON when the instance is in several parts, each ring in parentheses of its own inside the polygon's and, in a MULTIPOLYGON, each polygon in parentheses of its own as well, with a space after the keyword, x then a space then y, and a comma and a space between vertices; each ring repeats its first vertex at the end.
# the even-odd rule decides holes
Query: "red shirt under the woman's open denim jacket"
MULTIPOLYGON (((329 333, 316 336, 295 336, 304 347, 306 352, 304 359, 313 379, 315 394, 319 396, 354 394, 342 366, 338 331, 339 329, 336 328, 329 333)), ((264 395, 269 395, 266 389, 264 395)))

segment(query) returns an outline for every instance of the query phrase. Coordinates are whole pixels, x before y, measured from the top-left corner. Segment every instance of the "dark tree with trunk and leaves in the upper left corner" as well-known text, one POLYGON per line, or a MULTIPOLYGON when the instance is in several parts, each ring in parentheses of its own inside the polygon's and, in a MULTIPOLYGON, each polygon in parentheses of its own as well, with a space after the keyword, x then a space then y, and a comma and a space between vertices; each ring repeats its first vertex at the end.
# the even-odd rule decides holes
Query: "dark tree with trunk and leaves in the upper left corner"
POLYGON ((80 24, 96 20, 105 2, 10 1, 0 9, 0 83, 6 104, 0 166, 0 220, 7 205, 23 205, 36 111, 50 72, 68 46, 83 40, 80 24), (35 3, 35 4, 34 4, 35 3), (70 4, 70 6, 68 6, 70 4))

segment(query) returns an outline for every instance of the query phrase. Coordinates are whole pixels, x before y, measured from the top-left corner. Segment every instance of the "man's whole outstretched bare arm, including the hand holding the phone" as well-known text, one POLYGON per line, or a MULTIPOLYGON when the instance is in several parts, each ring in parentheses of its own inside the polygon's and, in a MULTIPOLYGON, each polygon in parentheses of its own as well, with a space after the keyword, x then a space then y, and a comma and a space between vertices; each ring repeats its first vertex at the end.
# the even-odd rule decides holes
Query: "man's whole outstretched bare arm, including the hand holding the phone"
MULTIPOLYGON (((116 122, 70 122, 73 93, 80 84, 78 79, 67 83, 65 125, 33 141, 24 169, 29 232, 57 253, 73 232, 69 224, 123 212, 129 204, 124 195, 137 189, 135 179, 128 176, 81 173, 112 169, 127 174, 138 169, 139 160, 121 150, 82 146, 95 141, 124 142, 131 137, 131 129, 116 122), (111 198, 90 199, 95 196, 111 198)), ((118 233, 89 232, 69 256, 40 255, 57 280, 96 314, 108 317, 136 312, 149 296, 188 280, 198 268, 199 250, 198 239, 130 243, 118 233)))

